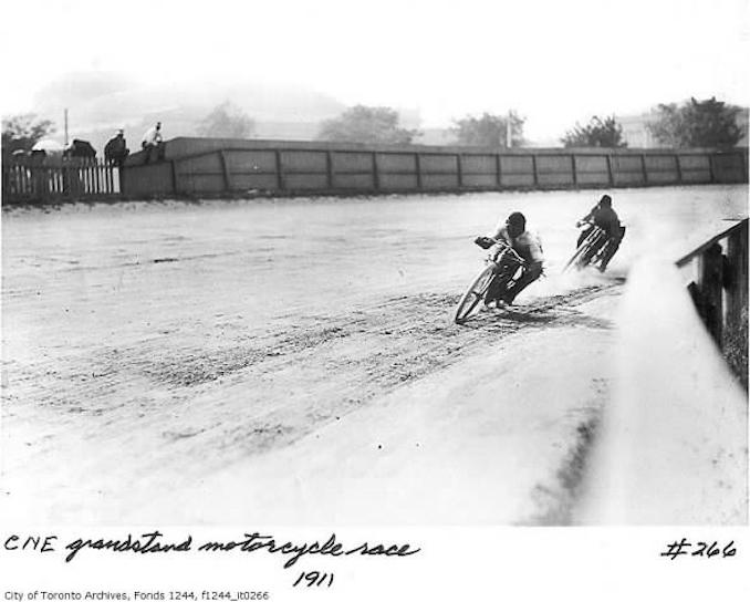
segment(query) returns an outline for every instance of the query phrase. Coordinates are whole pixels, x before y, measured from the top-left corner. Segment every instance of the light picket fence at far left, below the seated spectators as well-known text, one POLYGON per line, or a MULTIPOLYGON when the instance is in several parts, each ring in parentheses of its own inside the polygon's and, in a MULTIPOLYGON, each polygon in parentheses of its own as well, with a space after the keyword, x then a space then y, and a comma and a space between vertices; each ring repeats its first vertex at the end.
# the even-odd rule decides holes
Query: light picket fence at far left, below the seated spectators
POLYGON ((2 164, 3 203, 55 203, 119 193, 119 169, 104 162, 23 157, 2 164))

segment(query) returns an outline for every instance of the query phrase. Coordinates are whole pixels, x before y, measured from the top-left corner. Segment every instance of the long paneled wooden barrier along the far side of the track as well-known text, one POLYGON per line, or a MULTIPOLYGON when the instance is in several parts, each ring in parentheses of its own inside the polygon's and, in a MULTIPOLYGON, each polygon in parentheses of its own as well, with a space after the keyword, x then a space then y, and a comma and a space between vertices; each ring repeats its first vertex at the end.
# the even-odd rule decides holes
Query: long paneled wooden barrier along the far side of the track
POLYGON ((730 184, 747 149, 512 149, 175 138, 165 160, 128 157, 131 197, 377 194, 730 184), (158 169, 170 164, 170 172, 158 169))

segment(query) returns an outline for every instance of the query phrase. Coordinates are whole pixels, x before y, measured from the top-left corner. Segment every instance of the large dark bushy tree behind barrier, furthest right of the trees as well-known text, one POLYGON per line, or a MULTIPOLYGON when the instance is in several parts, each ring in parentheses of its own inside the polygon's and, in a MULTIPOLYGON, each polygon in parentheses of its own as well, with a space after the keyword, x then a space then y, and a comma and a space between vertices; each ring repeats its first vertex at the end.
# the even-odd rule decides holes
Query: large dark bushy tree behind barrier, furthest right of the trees
POLYGON ((659 142, 676 148, 735 146, 742 138, 737 125, 740 108, 716 97, 707 101, 659 104, 648 129, 659 142))

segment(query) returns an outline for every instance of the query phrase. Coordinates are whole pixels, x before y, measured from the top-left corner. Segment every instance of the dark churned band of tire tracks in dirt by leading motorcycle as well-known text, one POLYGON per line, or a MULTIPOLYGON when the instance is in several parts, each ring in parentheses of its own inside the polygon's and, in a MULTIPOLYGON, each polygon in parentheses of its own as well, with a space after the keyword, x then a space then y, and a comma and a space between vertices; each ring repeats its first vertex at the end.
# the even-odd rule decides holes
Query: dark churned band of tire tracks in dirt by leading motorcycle
MULTIPOLYGON (((129 454, 136 474, 166 463, 195 477, 291 444, 524 329, 610 328, 576 307, 619 288, 610 282, 507 313, 486 311, 462 326, 450 321, 459 295, 445 293, 295 315, 294 322, 281 316, 260 329, 228 316, 222 336, 205 333, 208 344, 180 339, 175 345, 165 334, 17 366, 6 411, 44 407, 58 428, 75 424, 85 437, 111 442, 103 456, 129 454)), ((35 453, 52 445, 35 445, 35 453)))

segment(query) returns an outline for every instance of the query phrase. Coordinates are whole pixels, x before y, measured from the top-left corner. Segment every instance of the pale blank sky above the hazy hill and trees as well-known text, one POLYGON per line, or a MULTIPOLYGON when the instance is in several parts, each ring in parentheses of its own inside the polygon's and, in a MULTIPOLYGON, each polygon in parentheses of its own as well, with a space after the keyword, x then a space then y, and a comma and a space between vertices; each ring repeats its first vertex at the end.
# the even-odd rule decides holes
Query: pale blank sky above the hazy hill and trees
POLYGON ((294 83, 423 126, 518 110, 529 137, 716 95, 750 104, 750 0, 3 2, 3 114, 71 71, 294 83), (32 33, 33 32, 33 33, 32 33))

